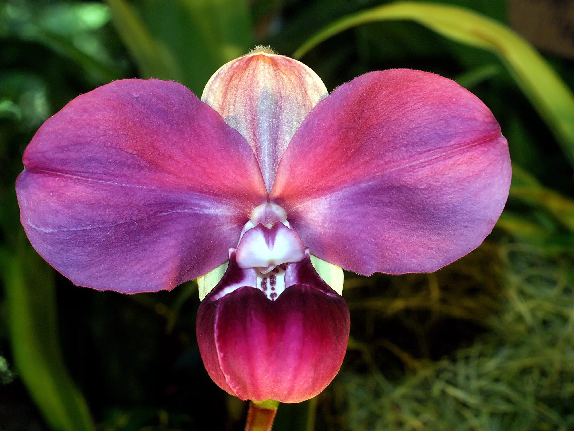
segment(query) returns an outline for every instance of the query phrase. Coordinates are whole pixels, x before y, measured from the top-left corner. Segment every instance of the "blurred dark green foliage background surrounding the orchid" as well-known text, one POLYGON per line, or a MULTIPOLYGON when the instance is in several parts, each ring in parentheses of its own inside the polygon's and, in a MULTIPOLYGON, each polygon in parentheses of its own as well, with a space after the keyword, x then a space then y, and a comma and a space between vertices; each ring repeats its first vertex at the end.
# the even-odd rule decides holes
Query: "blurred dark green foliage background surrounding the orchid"
POLYGON ((73 287, 26 243, 14 181, 33 133, 78 94, 153 76, 200 95, 254 44, 291 55, 324 27, 331 37, 302 60, 329 90, 391 67, 470 88, 509 140, 513 184, 494 233, 457 263, 346 274, 342 371, 319 397, 281 405, 274 431, 574 429, 574 64, 504 27, 505 1, 385 3, 0 2, 0 430, 242 429, 245 404, 201 363, 196 285, 131 296, 73 287))

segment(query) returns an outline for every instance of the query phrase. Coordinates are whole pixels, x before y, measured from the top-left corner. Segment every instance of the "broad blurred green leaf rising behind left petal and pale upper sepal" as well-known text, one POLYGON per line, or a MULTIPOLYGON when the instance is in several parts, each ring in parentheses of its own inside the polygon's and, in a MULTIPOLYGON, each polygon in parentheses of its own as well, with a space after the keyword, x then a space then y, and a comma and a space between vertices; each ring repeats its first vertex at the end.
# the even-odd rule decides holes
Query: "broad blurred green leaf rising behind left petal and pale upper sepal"
POLYGON ((142 75, 177 80, 198 95, 220 66, 253 47, 245 0, 107 2, 142 75), (159 53, 165 58, 154 58, 159 53), (162 63, 160 76, 153 68, 162 63))

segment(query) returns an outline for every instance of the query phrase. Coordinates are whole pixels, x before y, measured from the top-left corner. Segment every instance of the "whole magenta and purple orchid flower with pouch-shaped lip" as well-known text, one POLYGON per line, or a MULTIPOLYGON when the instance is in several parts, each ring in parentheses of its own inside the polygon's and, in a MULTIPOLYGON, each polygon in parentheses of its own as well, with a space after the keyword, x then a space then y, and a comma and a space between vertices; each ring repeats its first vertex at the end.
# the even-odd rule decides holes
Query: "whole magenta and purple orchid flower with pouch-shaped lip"
POLYGON ((430 272, 491 232, 510 187, 488 108, 452 80, 371 72, 327 93, 262 50, 198 99, 118 80, 49 118, 17 180, 30 243, 79 286, 197 279, 205 368, 241 399, 321 392, 347 347, 342 269, 430 272))

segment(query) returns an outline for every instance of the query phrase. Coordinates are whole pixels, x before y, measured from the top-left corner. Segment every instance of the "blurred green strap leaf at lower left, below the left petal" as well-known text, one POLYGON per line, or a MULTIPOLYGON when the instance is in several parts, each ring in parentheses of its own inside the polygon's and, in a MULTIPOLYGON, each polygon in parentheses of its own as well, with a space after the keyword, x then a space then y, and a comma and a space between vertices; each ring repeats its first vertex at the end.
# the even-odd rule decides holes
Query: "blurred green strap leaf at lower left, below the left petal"
POLYGON ((19 253, 0 249, 0 270, 15 368, 34 402, 53 430, 93 431, 61 355, 52 268, 22 238, 19 253))

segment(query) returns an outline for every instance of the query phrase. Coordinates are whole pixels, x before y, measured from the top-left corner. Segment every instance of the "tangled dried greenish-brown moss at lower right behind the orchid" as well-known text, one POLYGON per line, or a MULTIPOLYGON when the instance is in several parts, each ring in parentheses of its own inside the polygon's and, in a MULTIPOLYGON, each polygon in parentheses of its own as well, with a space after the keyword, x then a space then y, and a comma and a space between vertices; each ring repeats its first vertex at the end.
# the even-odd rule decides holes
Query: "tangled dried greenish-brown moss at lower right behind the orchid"
MULTIPOLYGON (((466 332, 466 345, 461 340, 439 360, 391 343, 394 352, 387 350, 404 363, 402 375, 387 367, 392 363, 388 357, 377 354, 377 345, 388 341, 384 337, 373 334, 356 341, 351 347, 358 346, 360 357, 346 364, 323 398, 332 429, 574 429, 572 256, 549 255, 523 244, 486 245, 475 253, 435 275, 379 280, 390 288, 368 299, 363 312, 371 313, 376 299, 383 321, 397 314, 403 321, 416 317, 423 334, 441 321, 448 321, 452 332, 468 321, 485 332, 478 330, 474 338, 466 332), (421 283, 433 277, 434 287, 421 283), (500 294, 492 282, 496 279, 502 280, 500 294), (368 371, 361 370, 361 363, 368 371)), ((436 341, 427 342, 432 351, 436 341)))

